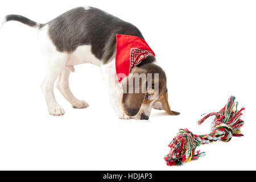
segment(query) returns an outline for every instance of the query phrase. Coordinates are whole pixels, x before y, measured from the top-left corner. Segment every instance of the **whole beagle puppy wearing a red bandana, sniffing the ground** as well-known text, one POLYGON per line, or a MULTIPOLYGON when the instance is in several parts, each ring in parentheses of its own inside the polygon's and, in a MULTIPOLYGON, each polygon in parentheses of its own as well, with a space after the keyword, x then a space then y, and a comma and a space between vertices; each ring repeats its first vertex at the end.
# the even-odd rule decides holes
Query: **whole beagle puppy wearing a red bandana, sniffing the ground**
POLYGON ((10 20, 38 30, 39 43, 47 69, 42 92, 46 98, 49 114, 65 113, 63 107, 55 100, 53 93, 55 82, 57 89, 74 108, 82 109, 89 106, 73 95, 68 82, 70 73, 75 72, 74 66, 84 63, 100 67, 109 89, 111 104, 118 118, 147 120, 152 108, 163 109, 170 115, 179 114, 171 111, 168 104, 166 74, 156 64, 154 52, 147 46, 141 32, 133 24, 94 7, 77 7, 46 24, 36 23, 20 15, 7 15, 3 23, 10 20), (125 45, 128 52, 123 51, 125 48, 122 48, 122 45, 117 50, 118 35, 121 36, 121 44, 126 44, 123 36, 128 42, 130 41, 125 45), (139 42, 139 46, 133 47, 136 42, 139 42), (141 49, 143 46, 146 48, 141 49), (119 59, 116 59, 117 51, 119 51, 118 55, 121 55, 119 59), (128 56, 126 60, 122 58, 123 55, 130 57, 128 56), (118 69, 125 67, 125 70, 129 71, 123 74, 122 80, 118 78, 117 67, 118 69), (134 83, 134 80, 139 81, 139 84, 134 83), (130 86, 133 88, 130 89, 130 86), (134 90, 139 91, 133 92, 134 90))

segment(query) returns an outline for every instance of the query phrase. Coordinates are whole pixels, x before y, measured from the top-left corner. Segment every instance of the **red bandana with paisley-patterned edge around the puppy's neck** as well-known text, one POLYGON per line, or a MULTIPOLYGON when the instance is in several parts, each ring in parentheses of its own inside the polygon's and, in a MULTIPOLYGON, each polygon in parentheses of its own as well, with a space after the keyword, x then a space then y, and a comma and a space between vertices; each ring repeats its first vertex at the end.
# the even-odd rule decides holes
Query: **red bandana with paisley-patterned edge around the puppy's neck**
POLYGON ((117 54, 115 56, 115 70, 118 81, 129 75, 131 69, 141 63, 148 56, 155 53, 145 40, 137 36, 117 34, 117 54))

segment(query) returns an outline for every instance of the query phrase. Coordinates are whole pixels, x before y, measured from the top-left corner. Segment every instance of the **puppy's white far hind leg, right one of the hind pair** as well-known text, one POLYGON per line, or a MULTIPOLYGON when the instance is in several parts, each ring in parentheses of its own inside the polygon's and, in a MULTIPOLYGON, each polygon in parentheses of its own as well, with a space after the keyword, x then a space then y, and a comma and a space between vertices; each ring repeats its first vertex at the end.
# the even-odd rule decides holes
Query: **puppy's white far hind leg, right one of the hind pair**
POLYGON ((56 88, 60 91, 60 93, 65 97, 65 99, 72 105, 72 107, 77 109, 83 109, 88 107, 89 105, 82 100, 78 100, 69 88, 69 75, 71 71, 67 68, 64 68, 60 73, 59 79, 56 82, 56 88))

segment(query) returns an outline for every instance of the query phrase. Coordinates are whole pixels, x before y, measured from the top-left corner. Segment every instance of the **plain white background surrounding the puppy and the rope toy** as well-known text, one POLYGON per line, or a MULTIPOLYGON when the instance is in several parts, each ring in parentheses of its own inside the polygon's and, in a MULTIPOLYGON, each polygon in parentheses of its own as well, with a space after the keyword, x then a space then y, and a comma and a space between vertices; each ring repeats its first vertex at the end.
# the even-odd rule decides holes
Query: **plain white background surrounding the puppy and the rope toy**
POLYGON ((66 114, 48 114, 40 82, 44 61, 33 28, 8 22, 0 32, 0 169, 256 169, 255 1, 0 1, 0 16, 20 14, 46 23, 77 6, 94 6, 133 23, 167 74, 172 117, 150 121, 115 117, 98 68, 79 65, 71 75, 73 109, 55 90, 66 114), (207 155, 181 167, 164 156, 180 128, 208 134, 212 118, 234 95, 245 106, 245 137, 201 146, 207 155))

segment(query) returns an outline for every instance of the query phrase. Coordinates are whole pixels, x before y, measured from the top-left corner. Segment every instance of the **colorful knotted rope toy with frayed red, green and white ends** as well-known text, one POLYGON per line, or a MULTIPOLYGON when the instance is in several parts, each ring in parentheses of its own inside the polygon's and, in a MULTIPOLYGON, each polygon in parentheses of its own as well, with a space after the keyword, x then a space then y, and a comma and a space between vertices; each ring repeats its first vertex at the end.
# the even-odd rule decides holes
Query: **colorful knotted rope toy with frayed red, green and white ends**
POLYGON ((189 162, 193 159, 198 159, 204 156, 205 152, 196 151, 196 147, 201 144, 208 144, 221 140, 222 142, 229 142, 232 137, 242 137, 240 128, 244 122, 240 119, 242 111, 237 110, 238 102, 235 97, 231 96, 228 104, 219 112, 207 114, 201 119, 198 124, 201 125, 207 118, 215 116, 212 122, 212 132, 208 135, 195 135, 188 129, 180 129, 177 137, 169 144, 171 148, 164 160, 168 166, 181 165, 182 162, 189 162))

